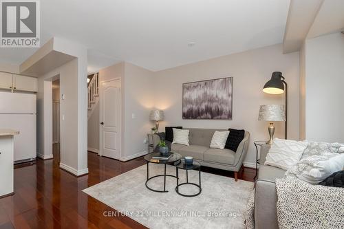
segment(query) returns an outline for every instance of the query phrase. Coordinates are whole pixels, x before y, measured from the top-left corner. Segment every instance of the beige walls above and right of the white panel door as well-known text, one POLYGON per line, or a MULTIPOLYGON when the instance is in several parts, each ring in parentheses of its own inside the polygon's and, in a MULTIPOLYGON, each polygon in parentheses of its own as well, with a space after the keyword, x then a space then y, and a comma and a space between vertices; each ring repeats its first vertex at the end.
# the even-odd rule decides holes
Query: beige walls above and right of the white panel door
MULTIPOLYGON (((153 107, 153 72, 132 65, 118 63, 99 72, 100 82, 121 78, 122 88, 122 152, 121 160, 130 160, 147 153, 144 140, 151 127, 149 111, 153 107)), ((99 142, 91 140, 98 138, 94 129, 99 128, 99 116, 94 111, 89 118, 89 147, 93 149, 99 142), (96 124, 97 123, 97 124, 96 124), (91 133, 93 132, 93 133, 91 133)))

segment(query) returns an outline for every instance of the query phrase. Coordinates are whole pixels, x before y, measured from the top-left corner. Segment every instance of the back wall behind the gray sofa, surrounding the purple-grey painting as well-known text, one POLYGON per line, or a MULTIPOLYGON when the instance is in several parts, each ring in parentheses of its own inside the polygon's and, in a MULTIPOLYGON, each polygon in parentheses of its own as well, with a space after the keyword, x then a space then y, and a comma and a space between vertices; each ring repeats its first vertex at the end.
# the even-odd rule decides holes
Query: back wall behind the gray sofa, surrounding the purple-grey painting
MULTIPOLYGON (((284 104, 284 94, 274 96, 262 91, 264 84, 275 71, 283 73, 289 86, 288 138, 298 140, 299 53, 282 54, 282 45, 262 47, 155 72, 155 107, 164 110, 165 114, 165 121, 160 128, 163 129, 166 125, 181 125, 209 129, 246 129, 251 134, 246 165, 255 163, 255 146, 252 142, 268 140, 268 122, 257 120, 259 105, 284 104), (182 119, 183 83, 227 76, 233 77, 233 120, 182 119)), ((276 123, 275 126, 275 136, 283 138, 284 122, 276 123)), ((140 127, 144 127, 144 124, 140 127)))

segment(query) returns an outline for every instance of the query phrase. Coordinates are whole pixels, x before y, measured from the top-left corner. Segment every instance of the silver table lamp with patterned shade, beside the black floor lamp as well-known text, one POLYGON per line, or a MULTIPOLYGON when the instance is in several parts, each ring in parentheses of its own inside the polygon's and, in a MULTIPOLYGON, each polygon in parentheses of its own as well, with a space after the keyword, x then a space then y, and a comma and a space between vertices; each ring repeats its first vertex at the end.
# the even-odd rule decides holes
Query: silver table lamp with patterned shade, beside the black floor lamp
POLYGON ((270 122, 268 131, 270 135, 270 140, 266 144, 272 144, 275 134, 274 122, 286 121, 286 111, 284 105, 261 105, 259 109, 259 121, 270 122))

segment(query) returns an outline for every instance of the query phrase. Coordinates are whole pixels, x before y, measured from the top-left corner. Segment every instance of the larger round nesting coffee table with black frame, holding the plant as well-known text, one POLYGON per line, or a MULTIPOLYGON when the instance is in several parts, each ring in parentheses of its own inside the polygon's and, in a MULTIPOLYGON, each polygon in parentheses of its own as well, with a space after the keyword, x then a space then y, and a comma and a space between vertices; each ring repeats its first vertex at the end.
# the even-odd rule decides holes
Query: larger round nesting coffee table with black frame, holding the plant
MULTIPOLYGON (((173 153, 173 152, 170 152, 170 153, 173 153)), ((147 181, 146 181, 146 187, 149 190, 153 191, 153 192, 168 193, 169 191, 166 190, 166 177, 175 177, 175 178, 177 178, 177 176, 166 174, 166 164, 178 163, 180 161, 180 159, 182 158, 182 155, 180 155, 179 153, 173 153, 172 156, 169 158, 169 160, 157 160, 157 159, 153 158, 153 157, 157 157, 159 155, 160 155, 160 153, 149 153, 149 154, 144 156, 144 160, 146 160, 146 162, 147 162, 147 181), (155 175, 153 177, 149 177, 149 163, 164 164, 164 174, 155 175), (155 190, 153 188, 149 188, 149 186, 147 185, 147 182, 149 182, 149 180, 151 180, 151 179, 153 179, 155 177, 164 177, 164 190, 155 190)), ((177 178, 177 180, 178 180, 178 178, 177 178)))

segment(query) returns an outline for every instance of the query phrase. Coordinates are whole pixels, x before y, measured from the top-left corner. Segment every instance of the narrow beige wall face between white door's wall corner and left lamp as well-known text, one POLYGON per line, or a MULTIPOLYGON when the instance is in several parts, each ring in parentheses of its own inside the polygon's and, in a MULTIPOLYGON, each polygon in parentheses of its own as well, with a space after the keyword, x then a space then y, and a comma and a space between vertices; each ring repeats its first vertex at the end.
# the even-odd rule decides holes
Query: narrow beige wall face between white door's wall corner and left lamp
POLYGON ((122 147, 122 160, 147 153, 147 144, 144 139, 151 127, 149 112, 153 108, 155 85, 153 73, 142 67, 125 63, 124 77, 124 147, 122 147))

